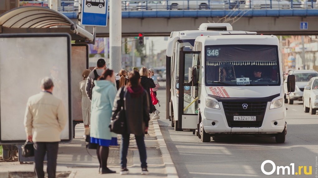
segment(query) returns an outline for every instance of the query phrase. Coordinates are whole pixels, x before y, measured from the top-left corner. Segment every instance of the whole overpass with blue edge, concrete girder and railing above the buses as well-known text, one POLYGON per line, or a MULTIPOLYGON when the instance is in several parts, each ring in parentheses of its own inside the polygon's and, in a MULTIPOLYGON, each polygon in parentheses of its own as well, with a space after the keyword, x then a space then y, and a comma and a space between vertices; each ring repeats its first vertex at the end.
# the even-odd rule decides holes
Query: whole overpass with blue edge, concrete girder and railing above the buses
MULTIPOLYGON (((299 4, 293 4, 293 1, 289 1, 291 4, 287 6, 275 4, 276 0, 263 0, 267 3, 261 6, 257 6, 255 2, 247 6, 246 3, 252 0, 246 0, 244 3, 239 0, 220 0, 225 3, 219 7, 210 6, 210 3, 215 1, 206 1, 209 5, 197 4, 198 8, 192 8, 191 3, 202 0, 178 1, 184 3, 182 9, 172 7, 176 2, 173 0, 161 1, 167 3, 166 6, 162 5, 163 3, 153 6, 152 3, 159 1, 152 0, 127 6, 127 2, 132 1, 122 1, 122 36, 136 36, 138 33, 146 36, 169 36, 171 31, 195 30, 201 23, 207 22, 227 22, 234 30, 254 31, 258 34, 318 35, 318 3, 315 0, 311 0, 303 8, 299 4), (172 4, 169 5, 169 2, 172 4), (231 2, 236 2, 239 6, 233 6, 231 2), (307 30, 300 29, 302 21, 308 22, 307 30)), ((45 6, 45 2, 41 3, 45 6)), ((63 6, 61 11, 67 9, 66 7, 69 6, 63 6)), ((61 13, 74 22, 77 21, 78 12, 61 13)), ((86 30, 93 33, 93 27, 87 26, 86 30)), ((108 37, 109 27, 97 27, 96 35, 108 37)))

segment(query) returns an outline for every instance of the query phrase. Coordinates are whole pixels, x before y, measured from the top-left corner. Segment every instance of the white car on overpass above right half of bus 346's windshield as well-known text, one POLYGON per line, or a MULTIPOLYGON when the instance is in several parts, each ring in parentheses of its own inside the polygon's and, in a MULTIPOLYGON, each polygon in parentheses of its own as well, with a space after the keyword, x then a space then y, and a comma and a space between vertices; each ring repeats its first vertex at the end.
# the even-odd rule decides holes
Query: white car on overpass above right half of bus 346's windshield
POLYGON ((246 0, 245 2, 245 8, 251 9, 290 9, 290 7, 290 1, 285 0, 246 0))

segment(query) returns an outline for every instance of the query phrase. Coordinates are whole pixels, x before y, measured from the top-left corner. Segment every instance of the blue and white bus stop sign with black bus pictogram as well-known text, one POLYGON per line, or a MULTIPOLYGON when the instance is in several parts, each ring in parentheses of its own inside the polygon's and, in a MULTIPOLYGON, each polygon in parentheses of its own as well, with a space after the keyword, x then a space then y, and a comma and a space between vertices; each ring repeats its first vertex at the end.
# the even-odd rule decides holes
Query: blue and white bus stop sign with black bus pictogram
POLYGON ((83 0, 81 24, 85 26, 107 26, 108 0, 83 0))

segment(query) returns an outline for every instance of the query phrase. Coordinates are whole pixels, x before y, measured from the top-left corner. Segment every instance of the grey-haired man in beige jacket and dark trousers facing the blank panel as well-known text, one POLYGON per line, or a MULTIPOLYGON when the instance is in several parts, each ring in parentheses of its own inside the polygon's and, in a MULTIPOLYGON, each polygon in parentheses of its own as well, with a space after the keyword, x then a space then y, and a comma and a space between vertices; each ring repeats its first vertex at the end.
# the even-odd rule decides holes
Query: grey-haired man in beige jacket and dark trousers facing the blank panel
POLYGON ((62 101, 52 95, 53 86, 51 78, 41 80, 42 92, 28 99, 24 117, 27 139, 34 142, 34 171, 38 178, 44 178, 45 153, 48 177, 55 178, 60 133, 67 121, 62 101))

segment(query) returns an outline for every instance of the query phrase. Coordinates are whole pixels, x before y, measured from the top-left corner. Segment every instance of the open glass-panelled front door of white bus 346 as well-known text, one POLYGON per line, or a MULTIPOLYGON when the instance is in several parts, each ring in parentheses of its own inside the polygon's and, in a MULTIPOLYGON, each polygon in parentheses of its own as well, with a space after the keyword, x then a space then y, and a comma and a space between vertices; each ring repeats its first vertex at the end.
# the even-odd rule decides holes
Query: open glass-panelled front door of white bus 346
MULTIPOLYGON (((200 51, 180 51, 178 89, 178 123, 180 129, 196 129, 198 115, 198 74, 200 51), (197 79, 189 83, 189 68, 196 68, 197 79), (192 85, 193 84, 193 85, 192 85)), ((190 70, 191 72, 191 70, 190 70)), ((190 73, 190 76, 192 73, 190 73)))

